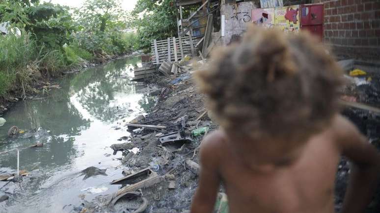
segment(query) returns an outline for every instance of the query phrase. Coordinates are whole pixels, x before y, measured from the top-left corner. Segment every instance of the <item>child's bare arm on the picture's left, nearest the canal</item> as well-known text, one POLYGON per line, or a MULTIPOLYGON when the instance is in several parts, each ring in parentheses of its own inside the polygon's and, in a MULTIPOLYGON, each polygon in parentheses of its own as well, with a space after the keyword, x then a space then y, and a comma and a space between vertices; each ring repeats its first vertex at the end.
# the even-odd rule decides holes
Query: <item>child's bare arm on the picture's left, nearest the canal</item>
POLYGON ((200 149, 199 184, 192 198, 191 213, 212 213, 214 211, 220 177, 218 175, 218 153, 216 137, 206 137, 200 149))

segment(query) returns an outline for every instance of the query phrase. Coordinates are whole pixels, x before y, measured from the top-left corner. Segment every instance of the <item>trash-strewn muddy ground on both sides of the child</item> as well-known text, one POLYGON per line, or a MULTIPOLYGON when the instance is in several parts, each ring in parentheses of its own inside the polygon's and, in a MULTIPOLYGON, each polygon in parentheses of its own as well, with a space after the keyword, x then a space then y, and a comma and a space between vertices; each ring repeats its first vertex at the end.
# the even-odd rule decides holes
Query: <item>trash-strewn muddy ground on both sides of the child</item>
MULTIPOLYGON (((157 105, 148 115, 124 124, 131 136, 122 137, 120 143, 111 145, 114 153, 123 153, 120 161, 124 168, 123 177, 110 183, 121 186, 108 198, 108 206, 114 210, 124 211, 131 202, 136 204, 131 207, 135 212, 141 212, 141 208, 146 212, 165 213, 190 210, 191 197, 197 187, 200 142, 205 134, 217 129, 217 124, 204 106, 204 96, 196 93, 192 67, 182 67, 181 73, 161 79, 165 86, 157 105)), ((370 142, 379 142, 380 114, 376 109, 380 103, 380 78, 376 73, 369 74, 359 68, 350 68, 347 76, 352 83, 344 89, 341 99, 354 106, 346 104, 343 115, 359 126, 370 142)), ((336 176, 336 210, 341 208, 348 174, 349 163, 342 159, 336 176)), ((222 191, 218 195, 216 212, 227 209, 226 195, 222 191)), ((378 193, 368 213, 379 208, 379 197, 378 193)))

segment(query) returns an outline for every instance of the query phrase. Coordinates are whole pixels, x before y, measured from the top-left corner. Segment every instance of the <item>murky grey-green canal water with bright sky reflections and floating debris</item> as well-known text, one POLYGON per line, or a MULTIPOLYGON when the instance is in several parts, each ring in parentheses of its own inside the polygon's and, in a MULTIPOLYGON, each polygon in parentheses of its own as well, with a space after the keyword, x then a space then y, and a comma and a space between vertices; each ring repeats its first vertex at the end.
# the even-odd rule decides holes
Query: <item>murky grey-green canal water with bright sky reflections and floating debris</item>
MULTIPOLYGON (((128 136, 120 125, 143 114, 155 104, 144 86, 129 79, 139 58, 120 59, 58 80, 61 87, 46 99, 20 101, 0 127, 0 153, 18 148, 20 169, 30 172, 19 183, 0 182, 0 212, 72 212, 74 207, 101 194, 116 191, 109 182, 122 177, 121 153, 109 146, 128 136), (25 130, 21 137, 7 139, 11 126, 25 130), (117 127, 121 127, 118 129, 117 127), (118 130, 116 130, 118 129, 118 130), (43 147, 28 148, 36 142, 43 147), (82 180, 76 172, 88 166, 107 168, 108 176, 82 180)), ((16 152, 0 155, 0 174, 16 172, 16 152)))

